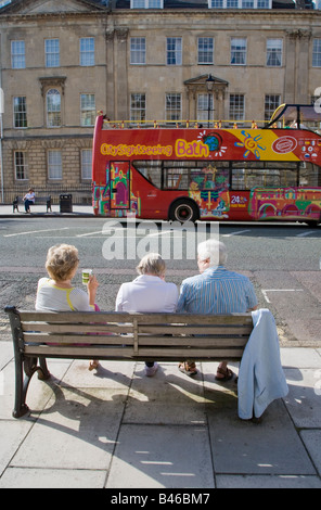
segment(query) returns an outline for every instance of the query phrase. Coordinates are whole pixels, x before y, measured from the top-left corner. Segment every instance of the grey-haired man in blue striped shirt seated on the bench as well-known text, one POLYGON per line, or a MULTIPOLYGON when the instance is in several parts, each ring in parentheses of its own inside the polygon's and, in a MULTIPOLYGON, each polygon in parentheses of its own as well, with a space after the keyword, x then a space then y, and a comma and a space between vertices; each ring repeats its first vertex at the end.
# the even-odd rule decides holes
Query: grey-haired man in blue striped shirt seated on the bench
MULTIPOLYGON (((243 275, 226 269, 227 258, 227 247, 223 243, 209 239, 198 244, 200 275, 182 282, 177 313, 218 315, 245 313, 257 308, 252 282, 243 275)), ((197 373, 195 364, 191 361, 180 364, 179 368, 188 375, 197 373)), ((232 377, 233 372, 228 368, 228 362, 221 361, 216 379, 229 381, 232 377)))

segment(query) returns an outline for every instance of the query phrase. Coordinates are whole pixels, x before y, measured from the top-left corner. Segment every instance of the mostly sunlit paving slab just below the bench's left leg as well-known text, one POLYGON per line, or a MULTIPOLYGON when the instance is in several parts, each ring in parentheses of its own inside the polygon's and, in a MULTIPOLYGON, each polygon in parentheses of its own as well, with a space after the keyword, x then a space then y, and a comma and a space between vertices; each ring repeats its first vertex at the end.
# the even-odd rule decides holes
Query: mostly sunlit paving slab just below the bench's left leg
POLYGON ((11 467, 107 469, 126 393, 56 386, 11 467))

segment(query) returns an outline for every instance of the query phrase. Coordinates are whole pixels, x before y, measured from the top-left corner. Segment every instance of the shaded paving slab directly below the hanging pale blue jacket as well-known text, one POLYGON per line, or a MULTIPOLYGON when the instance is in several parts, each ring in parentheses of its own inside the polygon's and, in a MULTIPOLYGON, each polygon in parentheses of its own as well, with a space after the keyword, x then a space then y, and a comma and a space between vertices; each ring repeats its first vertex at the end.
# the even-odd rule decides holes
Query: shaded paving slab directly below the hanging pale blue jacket
POLYGON ((268 407, 259 424, 215 407, 208 428, 217 474, 317 474, 282 399, 268 407))

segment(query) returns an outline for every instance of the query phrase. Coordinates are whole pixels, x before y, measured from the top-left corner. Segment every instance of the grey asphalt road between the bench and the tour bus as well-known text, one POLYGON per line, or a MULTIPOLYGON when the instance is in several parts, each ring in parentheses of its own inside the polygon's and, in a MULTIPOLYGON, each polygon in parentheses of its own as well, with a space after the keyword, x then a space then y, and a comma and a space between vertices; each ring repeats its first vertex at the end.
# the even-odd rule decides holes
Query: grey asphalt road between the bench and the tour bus
MULTIPOLYGON (((227 267, 253 281, 259 305, 274 315, 283 344, 321 346, 321 226, 292 224, 198 224, 187 232, 169 224, 121 224, 103 218, 3 218, 0 220, 0 308, 33 309, 37 280, 46 275, 48 248, 75 244, 80 267, 94 269, 98 303, 113 309, 117 290, 136 276, 140 256, 158 251, 167 262, 167 280, 180 285, 196 273, 196 244, 219 235, 228 247, 227 267)), ((81 285, 80 273, 75 283, 81 285)), ((7 316, 0 333, 9 340, 7 316)))

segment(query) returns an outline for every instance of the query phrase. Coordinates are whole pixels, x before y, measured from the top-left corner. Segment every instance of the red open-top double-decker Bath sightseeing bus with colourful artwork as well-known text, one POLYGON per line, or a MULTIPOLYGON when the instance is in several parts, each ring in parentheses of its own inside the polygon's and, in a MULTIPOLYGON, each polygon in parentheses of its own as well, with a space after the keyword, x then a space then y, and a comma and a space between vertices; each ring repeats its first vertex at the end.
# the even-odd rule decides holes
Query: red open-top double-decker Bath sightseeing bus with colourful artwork
POLYGON ((321 114, 313 105, 282 105, 265 128, 126 126, 97 117, 95 215, 321 221, 321 114))

